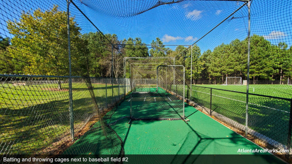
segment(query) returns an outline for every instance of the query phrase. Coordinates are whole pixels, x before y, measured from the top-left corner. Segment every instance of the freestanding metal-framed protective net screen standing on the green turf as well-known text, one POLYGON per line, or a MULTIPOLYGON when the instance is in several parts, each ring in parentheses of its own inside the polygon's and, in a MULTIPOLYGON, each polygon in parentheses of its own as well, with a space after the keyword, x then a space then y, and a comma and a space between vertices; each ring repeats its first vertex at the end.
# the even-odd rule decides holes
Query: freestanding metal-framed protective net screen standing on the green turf
MULTIPOLYGON (((152 70, 152 69, 151 69, 152 70)), ((133 70, 135 72, 135 70, 133 70)), ((142 73, 142 71, 140 71, 142 73)), ((152 71, 143 72, 146 77, 156 75, 156 84, 135 83, 131 78, 130 117, 133 120, 179 120, 185 119, 183 66, 159 65, 152 71), (156 72, 156 74, 154 74, 156 72), (152 87, 150 87, 152 86, 152 87), (154 87, 155 86, 155 87, 154 87)), ((140 79, 139 79, 140 80, 140 79)))

